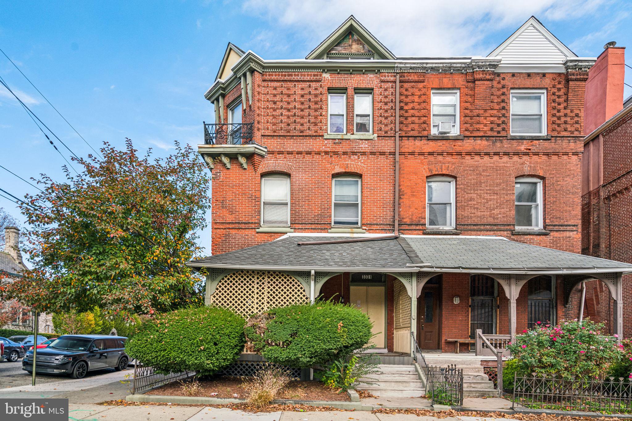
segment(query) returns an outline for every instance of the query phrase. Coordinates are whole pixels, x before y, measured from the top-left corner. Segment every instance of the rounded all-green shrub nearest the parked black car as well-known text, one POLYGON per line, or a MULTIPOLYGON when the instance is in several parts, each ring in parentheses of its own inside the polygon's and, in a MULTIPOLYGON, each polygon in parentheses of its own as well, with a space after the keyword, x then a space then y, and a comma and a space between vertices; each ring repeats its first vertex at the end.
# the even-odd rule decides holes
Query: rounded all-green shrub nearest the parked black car
POLYGON ((243 350, 244 323, 218 307, 176 310, 143 323, 125 349, 130 357, 158 372, 214 374, 243 350))

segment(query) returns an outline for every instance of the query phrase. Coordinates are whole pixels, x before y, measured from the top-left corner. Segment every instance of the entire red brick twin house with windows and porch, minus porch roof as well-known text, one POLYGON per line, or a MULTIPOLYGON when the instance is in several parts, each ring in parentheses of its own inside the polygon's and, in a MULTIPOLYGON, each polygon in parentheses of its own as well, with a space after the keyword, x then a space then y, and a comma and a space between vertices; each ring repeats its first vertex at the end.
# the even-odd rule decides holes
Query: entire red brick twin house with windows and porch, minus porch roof
MULTIPOLYGON (((353 16, 305 59, 268 61, 229 44, 205 93, 215 123, 205 124, 198 148, 213 174, 212 253, 282 236, 393 234, 464 244, 495 235, 579 253, 584 91, 594 62, 533 17, 486 57, 396 57, 353 16)), ((410 256, 413 266, 424 260, 410 256)), ((263 259, 192 266, 211 270, 207 303, 245 315, 319 295, 352 302, 372 314, 377 347, 395 352, 410 352, 411 331, 422 348, 447 351, 476 329, 508 334, 577 317, 578 284, 588 276, 564 259, 499 275, 365 264, 312 268, 310 290, 308 266, 263 259)))

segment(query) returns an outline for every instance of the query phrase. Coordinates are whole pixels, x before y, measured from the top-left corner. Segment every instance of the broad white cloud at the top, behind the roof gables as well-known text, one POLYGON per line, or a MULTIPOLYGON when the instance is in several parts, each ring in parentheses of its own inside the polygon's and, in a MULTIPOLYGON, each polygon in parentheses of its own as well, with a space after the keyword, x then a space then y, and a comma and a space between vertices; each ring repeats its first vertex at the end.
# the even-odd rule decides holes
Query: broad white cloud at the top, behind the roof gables
MULTIPOLYGON (((604 1, 391 0, 385 7, 381 0, 248 0, 243 12, 301 35, 307 48, 319 44, 353 14, 398 56, 461 56, 487 55, 497 46, 484 40, 491 30, 505 30, 509 35, 531 15, 547 20, 590 15, 604 1)), ((295 42, 289 37, 293 34, 284 42, 295 42)))

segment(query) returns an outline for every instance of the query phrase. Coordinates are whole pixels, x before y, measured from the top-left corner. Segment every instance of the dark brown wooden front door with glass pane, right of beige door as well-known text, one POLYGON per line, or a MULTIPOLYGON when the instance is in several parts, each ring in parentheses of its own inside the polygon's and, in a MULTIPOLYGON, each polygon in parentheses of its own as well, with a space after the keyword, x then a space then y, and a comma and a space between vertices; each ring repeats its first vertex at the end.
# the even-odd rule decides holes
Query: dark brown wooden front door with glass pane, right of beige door
MULTIPOLYGON (((428 281, 430 282, 430 281, 428 281)), ((423 286, 417 299, 417 343, 422 350, 438 350, 441 328, 440 285, 423 286)))

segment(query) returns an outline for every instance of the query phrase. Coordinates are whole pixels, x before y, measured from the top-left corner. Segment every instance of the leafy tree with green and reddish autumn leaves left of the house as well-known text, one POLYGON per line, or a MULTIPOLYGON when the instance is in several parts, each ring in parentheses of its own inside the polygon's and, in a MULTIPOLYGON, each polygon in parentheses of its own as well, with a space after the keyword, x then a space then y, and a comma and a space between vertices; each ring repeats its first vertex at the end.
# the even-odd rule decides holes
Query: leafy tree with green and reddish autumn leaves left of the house
POLYGON ((109 317, 202 304, 202 282, 185 262, 200 252, 210 174, 191 146, 175 146, 154 159, 130 139, 123 150, 105 143, 103 160, 73 159, 80 175, 42 175, 44 192, 20 206, 33 269, 3 295, 39 311, 98 306, 109 317))

